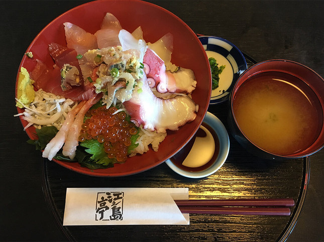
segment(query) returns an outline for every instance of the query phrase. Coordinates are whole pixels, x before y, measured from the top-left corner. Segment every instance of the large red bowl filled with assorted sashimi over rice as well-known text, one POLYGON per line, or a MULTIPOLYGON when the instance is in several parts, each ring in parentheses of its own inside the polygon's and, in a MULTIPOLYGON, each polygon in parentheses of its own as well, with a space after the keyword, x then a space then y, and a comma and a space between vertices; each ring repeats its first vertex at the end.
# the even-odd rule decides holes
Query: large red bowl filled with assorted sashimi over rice
POLYGON ((16 100, 30 143, 83 174, 123 176, 162 163, 190 140, 208 108, 205 51, 188 26, 153 4, 81 5, 45 27, 26 52, 33 57, 23 57, 17 80, 27 70, 35 98, 16 100), (75 18, 81 13, 91 24, 75 18))

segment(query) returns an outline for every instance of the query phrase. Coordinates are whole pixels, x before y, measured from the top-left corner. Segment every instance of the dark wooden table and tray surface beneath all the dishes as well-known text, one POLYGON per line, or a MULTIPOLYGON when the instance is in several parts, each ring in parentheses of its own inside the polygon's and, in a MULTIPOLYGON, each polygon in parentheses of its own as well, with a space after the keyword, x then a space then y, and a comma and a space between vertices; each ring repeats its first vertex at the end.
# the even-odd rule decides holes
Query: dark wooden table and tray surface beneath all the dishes
MULTIPOLYGON (((43 160, 27 144, 15 108, 20 61, 36 35, 54 18, 87 1, 1 1, 0 240, 242 240, 281 237, 289 217, 191 215, 189 226, 62 227, 66 187, 189 187, 192 198, 300 197, 305 160, 270 162, 250 155, 231 138, 230 155, 219 172, 183 178, 161 164, 124 178, 88 177, 43 160)), ((288 59, 324 76, 324 1, 148 1, 181 18, 195 33, 234 43, 256 61, 288 59)), ((323 94, 324 95, 324 94, 323 94)), ((226 105, 209 111, 226 125, 226 105)), ((226 125, 227 126, 227 125, 226 125)), ((324 150, 310 156, 310 177, 297 223, 287 241, 324 240, 322 188, 324 150)), ((296 207, 294 208, 296 209, 296 207)))

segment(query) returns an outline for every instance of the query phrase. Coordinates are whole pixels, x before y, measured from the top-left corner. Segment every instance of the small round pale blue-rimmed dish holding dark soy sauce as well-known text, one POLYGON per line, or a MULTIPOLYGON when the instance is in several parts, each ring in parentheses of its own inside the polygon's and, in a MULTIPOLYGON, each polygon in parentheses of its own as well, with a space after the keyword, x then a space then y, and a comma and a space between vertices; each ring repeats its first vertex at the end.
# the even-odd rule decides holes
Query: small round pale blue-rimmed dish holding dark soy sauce
POLYGON ((193 138, 166 164, 176 173, 202 178, 219 170, 230 150, 230 139, 224 124, 207 112, 193 138))

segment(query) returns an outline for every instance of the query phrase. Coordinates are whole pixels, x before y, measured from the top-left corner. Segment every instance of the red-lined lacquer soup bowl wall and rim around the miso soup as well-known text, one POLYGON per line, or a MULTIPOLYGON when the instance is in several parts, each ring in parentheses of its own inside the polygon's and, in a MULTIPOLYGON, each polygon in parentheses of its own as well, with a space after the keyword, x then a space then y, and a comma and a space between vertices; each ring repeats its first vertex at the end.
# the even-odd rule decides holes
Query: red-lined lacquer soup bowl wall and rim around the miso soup
POLYGON ((282 60, 282 59, 274 59, 274 60, 268 60, 264 62, 260 62, 258 64, 255 64, 254 66, 247 69, 237 80, 237 82, 234 85, 234 88, 231 93, 230 97, 230 106, 231 106, 231 112, 230 112, 230 129, 232 135, 235 137, 235 139, 249 152, 262 157, 266 159, 287 159, 287 158, 301 158, 308 155, 311 155, 318 150, 320 150, 322 147, 324 147, 324 121, 323 121, 323 115, 324 115, 324 79, 320 77, 316 72, 314 72, 312 69, 306 67, 305 65, 302 65, 300 63, 289 61, 289 60, 282 60), (266 151, 257 145, 255 145, 251 140, 249 140, 245 134, 242 132, 242 130, 239 127, 238 122, 236 121, 235 114, 233 111, 233 102, 235 99, 235 94, 237 93, 240 86, 247 80, 249 80, 252 76, 255 76, 260 73, 265 72, 281 72, 290 74, 299 80, 301 80, 303 83, 305 83, 315 94, 314 96, 318 100, 318 111, 319 115, 321 115, 321 127, 319 128, 318 136, 316 140, 313 142, 312 145, 310 145, 308 148, 294 153, 290 155, 278 155, 275 153, 271 153, 269 151, 266 151), (310 81, 307 81, 310 80, 310 81))

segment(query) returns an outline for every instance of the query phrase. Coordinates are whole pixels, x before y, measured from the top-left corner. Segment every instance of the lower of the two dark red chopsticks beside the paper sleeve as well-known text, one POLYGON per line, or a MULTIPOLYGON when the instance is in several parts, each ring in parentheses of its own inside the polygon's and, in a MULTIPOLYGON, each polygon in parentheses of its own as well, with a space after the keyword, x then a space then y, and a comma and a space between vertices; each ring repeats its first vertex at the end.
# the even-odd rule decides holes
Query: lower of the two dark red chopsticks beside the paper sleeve
POLYGON ((290 215, 289 207, 191 207, 179 206, 183 213, 290 215))

